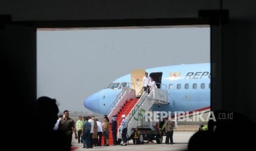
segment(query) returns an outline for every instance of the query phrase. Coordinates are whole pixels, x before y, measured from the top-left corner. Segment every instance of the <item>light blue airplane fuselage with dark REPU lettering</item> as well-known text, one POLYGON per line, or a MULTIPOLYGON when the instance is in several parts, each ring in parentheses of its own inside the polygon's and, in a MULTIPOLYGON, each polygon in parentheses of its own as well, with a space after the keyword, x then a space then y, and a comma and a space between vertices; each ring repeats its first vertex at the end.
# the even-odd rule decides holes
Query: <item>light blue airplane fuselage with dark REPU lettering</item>
MULTIPOLYGON (((177 113, 177 119, 193 118, 194 115, 210 111, 210 63, 173 65, 138 69, 114 80, 107 88, 96 92, 84 101, 85 108, 101 115, 109 115, 113 102, 127 86, 135 89, 135 97, 140 97, 145 72, 153 77, 157 88, 167 91, 167 103, 153 104, 151 112, 177 113)), ((121 107, 121 106, 120 106, 121 107)), ((206 124, 203 119, 180 120, 179 124, 206 124)))

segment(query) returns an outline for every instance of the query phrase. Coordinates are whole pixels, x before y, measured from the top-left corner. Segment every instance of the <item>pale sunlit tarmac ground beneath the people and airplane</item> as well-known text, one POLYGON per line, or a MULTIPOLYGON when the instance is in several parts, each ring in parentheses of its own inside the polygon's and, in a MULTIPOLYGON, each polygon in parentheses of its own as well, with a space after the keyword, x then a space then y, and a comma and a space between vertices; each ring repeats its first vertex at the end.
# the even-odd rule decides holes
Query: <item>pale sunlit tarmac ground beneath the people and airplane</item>
POLYGON ((173 133, 173 142, 175 144, 165 144, 165 138, 163 137, 162 144, 157 144, 155 141, 151 144, 133 144, 133 141, 128 141, 127 146, 95 146, 93 148, 83 148, 82 143, 78 143, 75 140, 74 136, 72 138, 72 151, 80 151, 80 150, 187 150, 188 141, 191 136, 194 135, 195 132, 174 132, 173 133))

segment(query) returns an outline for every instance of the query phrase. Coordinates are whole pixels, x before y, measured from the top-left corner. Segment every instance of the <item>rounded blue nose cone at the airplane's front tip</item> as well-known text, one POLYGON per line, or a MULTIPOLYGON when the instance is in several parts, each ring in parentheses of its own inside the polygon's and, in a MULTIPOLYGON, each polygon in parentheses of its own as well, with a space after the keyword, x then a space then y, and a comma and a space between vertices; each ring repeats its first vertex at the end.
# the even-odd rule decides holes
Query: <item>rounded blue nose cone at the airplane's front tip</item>
POLYGON ((92 112, 95 113, 100 113, 100 94, 99 92, 89 96, 88 98, 86 98, 86 100, 84 101, 84 107, 89 109, 92 112))

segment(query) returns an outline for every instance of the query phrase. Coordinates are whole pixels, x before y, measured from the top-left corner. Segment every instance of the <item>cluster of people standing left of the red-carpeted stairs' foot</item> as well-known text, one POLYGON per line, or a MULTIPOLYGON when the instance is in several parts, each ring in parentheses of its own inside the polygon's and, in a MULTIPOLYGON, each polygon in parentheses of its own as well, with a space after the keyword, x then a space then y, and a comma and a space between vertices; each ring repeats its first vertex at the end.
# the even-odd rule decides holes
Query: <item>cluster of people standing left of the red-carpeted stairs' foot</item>
MULTIPOLYGON (((101 123, 95 117, 79 116, 77 121, 78 143, 83 143, 83 148, 92 148, 92 146, 101 146, 101 138, 104 136, 104 146, 109 145, 110 120, 104 115, 104 122, 101 123), (93 126, 92 126, 93 125, 93 126)), ((116 115, 113 115, 111 122, 111 132, 113 138, 113 146, 117 145, 117 121, 116 115)), ((122 115, 121 132, 123 138, 122 146, 127 146, 127 121, 126 116, 122 115)))

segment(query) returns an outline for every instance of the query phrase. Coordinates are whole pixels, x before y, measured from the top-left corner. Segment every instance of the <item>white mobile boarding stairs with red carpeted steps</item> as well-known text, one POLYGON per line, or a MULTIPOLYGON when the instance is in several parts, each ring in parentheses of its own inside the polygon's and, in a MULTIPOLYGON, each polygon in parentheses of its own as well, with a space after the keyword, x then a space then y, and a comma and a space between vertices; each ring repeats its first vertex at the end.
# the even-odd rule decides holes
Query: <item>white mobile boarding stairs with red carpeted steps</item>
MULTIPOLYGON (((141 96, 138 96, 135 95, 134 89, 125 87, 112 103, 108 118, 111 120, 112 116, 116 115, 117 126, 120 127, 122 122, 121 116, 125 114, 128 121, 127 138, 131 138, 133 137, 134 129, 137 127, 147 127, 149 129, 152 127, 152 122, 145 122, 145 113, 151 110, 153 104, 168 104, 167 90, 155 89, 150 94, 144 92, 141 96)), ((117 134, 118 138, 122 138, 119 131, 117 134)), ((112 133, 110 133, 110 144, 112 143, 112 133)))

